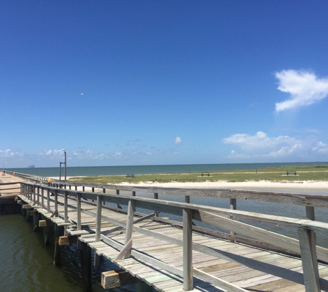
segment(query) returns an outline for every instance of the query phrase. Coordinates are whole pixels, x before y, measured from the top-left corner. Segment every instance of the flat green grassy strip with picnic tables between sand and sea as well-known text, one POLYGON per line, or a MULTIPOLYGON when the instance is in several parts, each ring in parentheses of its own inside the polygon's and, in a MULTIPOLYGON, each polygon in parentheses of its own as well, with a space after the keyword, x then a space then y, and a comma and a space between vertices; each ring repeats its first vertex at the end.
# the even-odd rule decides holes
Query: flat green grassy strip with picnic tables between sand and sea
MULTIPOLYGON (((206 171, 206 170, 204 170, 206 171)), ((287 166, 279 168, 264 168, 258 170, 235 170, 233 172, 210 172, 210 176, 201 176, 200 172, 174 173, 174 174, 137 174, 132 179, 126 179, 125 175, 115 176, 85 176, 74 177, 70 181, 80 183, 130 183, 139 182, 202 182, 202 181, 328 181, 328 165, 287 166), (287 171, 296 171, 296 175, 287 171)))

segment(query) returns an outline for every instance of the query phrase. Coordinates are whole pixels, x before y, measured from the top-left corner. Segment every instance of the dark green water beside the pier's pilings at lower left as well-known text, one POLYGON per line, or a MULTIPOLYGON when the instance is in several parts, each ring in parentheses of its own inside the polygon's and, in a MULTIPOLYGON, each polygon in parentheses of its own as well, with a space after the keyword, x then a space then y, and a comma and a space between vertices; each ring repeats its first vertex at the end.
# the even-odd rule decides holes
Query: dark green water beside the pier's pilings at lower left
MULTIPOLYGON (((52 264, 54 246, 44 246, 43 232, 33 232, 22 215, 0 216, 0 291, 81 291, 81 264, 76 245, 61 248, 61 266, 52 264)), ((109 261, 93 267, 93 291, 103 289, 101 273, 115 269, 109 261)))

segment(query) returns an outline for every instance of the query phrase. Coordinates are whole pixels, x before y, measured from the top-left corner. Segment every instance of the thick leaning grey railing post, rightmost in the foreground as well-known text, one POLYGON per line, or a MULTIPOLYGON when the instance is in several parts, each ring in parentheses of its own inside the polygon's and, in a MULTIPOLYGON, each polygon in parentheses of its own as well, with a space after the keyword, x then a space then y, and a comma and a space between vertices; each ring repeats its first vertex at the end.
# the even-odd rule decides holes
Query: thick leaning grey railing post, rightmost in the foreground
POLYGON ((298 228, 305 291, 320 292, 321 289, 318 259, 316 255, 316 240, 313 233, 313 230, 298 228))

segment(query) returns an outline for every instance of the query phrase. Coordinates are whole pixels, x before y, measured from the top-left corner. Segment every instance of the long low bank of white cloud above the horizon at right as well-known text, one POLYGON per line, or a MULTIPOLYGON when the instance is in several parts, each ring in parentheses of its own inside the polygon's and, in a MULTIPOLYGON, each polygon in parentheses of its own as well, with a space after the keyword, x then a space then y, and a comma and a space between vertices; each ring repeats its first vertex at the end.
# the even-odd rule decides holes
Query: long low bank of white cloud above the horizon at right
POLYGON ((232 150, 229 158, 320 158, 328 153, 328 145, 316 136, 305 139, 289 136, 269 137, 258 131, 255 135, 234 134, 222 139, 225 144, 237 145, 241 153, 232 150))

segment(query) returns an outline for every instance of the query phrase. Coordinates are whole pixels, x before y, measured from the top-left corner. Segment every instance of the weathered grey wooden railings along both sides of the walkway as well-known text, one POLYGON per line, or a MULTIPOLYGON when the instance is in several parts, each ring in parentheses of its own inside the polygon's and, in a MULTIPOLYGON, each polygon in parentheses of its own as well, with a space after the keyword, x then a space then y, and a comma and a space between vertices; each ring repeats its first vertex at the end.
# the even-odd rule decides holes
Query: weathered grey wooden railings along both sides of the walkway
MULTIPOLYGON (((57 186, 57 185, 56 185, 57 186)), ((307 212, 313 214, 313 208, 316 206, 327 207, 328 200, 326 196, 307 196, 304 194, 281 194, 272 192, 251 192, 251 191, 239 191, 239 190, 189 190, 189 189, 168 189, 168 188, 138 188, 138 187, 126 187, 121 185, 83 185, 89 187, 93 192, 84 192, 77 190, 77 184, 74 183, 60 183, 61 188, 54 188, 42 184, 34 183, 21 183, 21 193, 25 194, 35 204, 40 204, 42 208, 46 208, 50 211, 50 193, 54 193, 55 207, 51 211, 55 211, 58 208, 59 196, 64 196, 64 214, 56 214, 55 216, 61 216, 65 222, 68 222, 68 197, 76 199, 76 206, 69 206, 70 208, 77 209, 77 230, 81 230, 81 212, 87 212, 88 215, 93 215, 96 218, 96 230, 95 240, 105 241, 106 243, 123 250, 124 256, 128 257, 130 254, 135 257, 142 257, 142 260, 159 266, 160 268, 169 271, 175 275, 183 277, 184 289, 186 291, 193 288, 193 275, 200 277, 204 280, 211 282, 212 284, 222 287, 228 291, 244 291, 238 286, 234 286, 228 282, 224 282, 217 277, 213 277, 207 273, 204 273, 192 266, 192 251, 197 250, 206 255, 213 255, 222 259, 227 259, 232 262, 238 262, 244 266, 249 266, 255 270, 270 273, 293 282, 305 284, 307 291, 328 291, 328 281, 319 277, 318 273, 318 259, 322 262, 328 262, 328 249, 316 246, 315 232, 328 232, 328 223, 313 221, 310 219, 293 219, 289 217, 278 217, 274 215, 264 215, 255 212, 246 212, 240 210, 234 210, 235 205, 231 209, 216 208, 210 206, 200 206, 191 203, 178 203, 175 201, 163 201, 158 198, 158 194, 180 194, 186 197, 186 201, 189 201, 189 196, 203 196, 203 197, 217 197, 217 198, 230 198, 230 199, 253 199, 258 201, 269 201, 278 203, 293 203, 305 206, 307 212), (75 190, 70 190, 75 186, 75 190), (102 192, 95 192, 95 188, 102 190, 102 192), (116 190, 116 194, 106 193, 106 189, 116 190), (119 190, 132 191, 132 196, 126 196, 119 194, 119 190), (41 192, 40 192, 41 191, 41 192), (44 192, 46 192, 47 206, 44 206, 44 192), (145 199, 142 197, 136 197, 136 192, 153 192, 155 199, 145 199), (81 210, 81 200, 93 200, 97 205, 97 212, 88 212, 81 210), (117 206, 127 206, 128 219, 126 223, 117 222, 114 219, 102 216, 102 204, 115 203, 117 206), (183 240, 169 237, 167 235, 161 235, 151 230, 145 230, 133 226, 133 215, 135 214, 135 208, 143 208, 150 210, 150 212, 164 212, 172 215, 180 215, 183 220, 182 223, 169 220, 160 219, 156 217, 156 220, 162 220, 175 225, 180 225, 183 228, 183 240), (310 210, 310 211, 309 211, 310 210), (117 226, 126 228, 125 246, 117 244, 105 234, 101 232, 101 221, 108 221, 114 223, 117 226), (209 228, 200 228, 192 225, 192 220, 201 221, 211 226, 224 228, 231 230, 233 233, 229 235, 231 239, 244 238, 249 244, 252 242, 261 243, 262 246, 272 249, 284 250, 287 253, 293 253, 301 255, 303 275, 295 271, 289 271, 285 268, 273 266, 272 264, 266 264, 258 262, 255 259, 249 259, 240 255, 234 255, 232 253, 203 246, 201 244, 193 243, 193 230, 200 230, 203 232, 211 233, 212 235, 222 235, 221 232, 210 230, 209 228), (248 222, 248 223, 245 223, 248 222), (262 228, 255 227, 249 223, 261 223, 269 226, 279 226, 280 228, 296 229, 298 230, 298 239, 286 237, 275 232, 270 232, 262 228), (155 237, 168 241, 171 244, 177 244, 183 246, 184 262, 183 270, 169 266, 164 262, 160 262, 142 253, 138 253, 137 250, 131 251, 129 242, 132 232, 140 232, 144 235, 155 237), (234 235, 235 233, 238 236, 234 235), (243 235, 245 237, 242 237, 243 235), (304 277, 304 278, 303 278, 304 277)), ((61 203, 63 204, 63 203, 61 203)), ((113 208, 117 210, 117 208, 113 208)), ((155 216, 155 214, 151 214, 155 216)), ((107 231, 108 232, 108 231, 107 231)))

